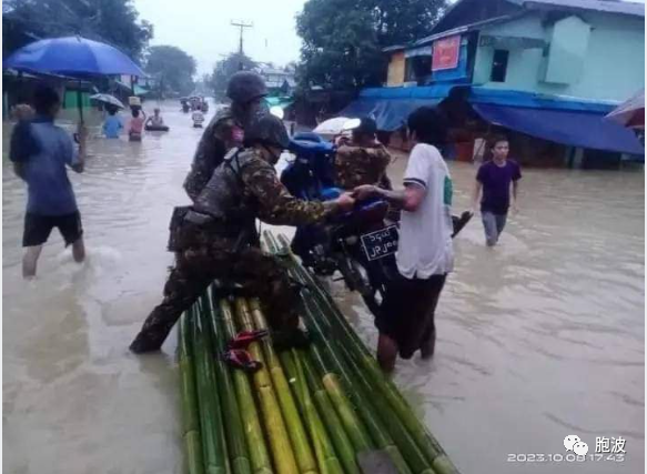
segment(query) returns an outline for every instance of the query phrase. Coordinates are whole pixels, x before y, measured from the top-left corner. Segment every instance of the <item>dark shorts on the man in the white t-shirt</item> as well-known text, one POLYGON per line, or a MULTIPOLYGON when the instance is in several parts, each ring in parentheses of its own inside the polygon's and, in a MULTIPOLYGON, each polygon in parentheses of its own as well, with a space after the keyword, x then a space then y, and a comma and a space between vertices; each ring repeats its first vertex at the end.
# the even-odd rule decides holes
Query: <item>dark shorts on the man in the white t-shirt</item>
POLYGON ((400 276, 387 284, 375 326, 397 343, 401 357, 410 359, 435 332, 434 313, 446 278, 400 276))

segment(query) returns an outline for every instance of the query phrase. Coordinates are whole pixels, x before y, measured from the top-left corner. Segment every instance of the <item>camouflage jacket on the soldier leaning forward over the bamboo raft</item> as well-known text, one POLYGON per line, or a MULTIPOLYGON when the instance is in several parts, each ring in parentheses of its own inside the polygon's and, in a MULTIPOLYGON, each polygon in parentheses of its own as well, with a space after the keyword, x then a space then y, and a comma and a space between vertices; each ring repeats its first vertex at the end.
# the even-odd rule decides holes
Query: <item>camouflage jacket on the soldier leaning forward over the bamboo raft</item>
POLYGON ((334 204, 294 198, 257 150, 232 149, 195 199, 193 209, 224 223, 231 234, 249 229, 256 219, 275 225, 313 223, 331 213, 334 204))

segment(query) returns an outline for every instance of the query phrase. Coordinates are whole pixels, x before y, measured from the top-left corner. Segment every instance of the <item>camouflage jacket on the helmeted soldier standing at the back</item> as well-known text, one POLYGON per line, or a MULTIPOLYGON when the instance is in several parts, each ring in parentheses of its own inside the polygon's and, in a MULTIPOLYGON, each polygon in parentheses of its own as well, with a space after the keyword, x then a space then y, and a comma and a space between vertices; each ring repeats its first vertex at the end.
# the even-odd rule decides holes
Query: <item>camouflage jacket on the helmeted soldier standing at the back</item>
POLYGON ((243 127, 230 108, 221 109, 204 129, 193 155, 191 171, 184 180, 184 190, 192 201, 202 192, 226 152, 234 147, 241 147, 242 141, 243 127))

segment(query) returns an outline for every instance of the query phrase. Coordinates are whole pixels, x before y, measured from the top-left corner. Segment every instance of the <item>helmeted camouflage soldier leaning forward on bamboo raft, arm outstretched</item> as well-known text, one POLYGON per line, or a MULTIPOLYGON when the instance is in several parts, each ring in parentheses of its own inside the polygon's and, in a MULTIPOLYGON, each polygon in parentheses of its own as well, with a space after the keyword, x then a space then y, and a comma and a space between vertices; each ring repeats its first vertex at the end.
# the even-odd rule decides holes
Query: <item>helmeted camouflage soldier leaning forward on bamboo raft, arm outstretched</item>
POLYGON ((265 304, 274 330, 294 329, 297 293, 285 269, 259 249, 256 219, 303 225, 353 206, 348 194, 325 203, 301 201, 281 184, 273 164, 287 148, 283 122, 259 119, 246 133, 245 150, 232 149, 196 196, 174 232, 176 263, 153 310, 130 349, 159 350, 171 327, 214 280, 243 284, 265 304))

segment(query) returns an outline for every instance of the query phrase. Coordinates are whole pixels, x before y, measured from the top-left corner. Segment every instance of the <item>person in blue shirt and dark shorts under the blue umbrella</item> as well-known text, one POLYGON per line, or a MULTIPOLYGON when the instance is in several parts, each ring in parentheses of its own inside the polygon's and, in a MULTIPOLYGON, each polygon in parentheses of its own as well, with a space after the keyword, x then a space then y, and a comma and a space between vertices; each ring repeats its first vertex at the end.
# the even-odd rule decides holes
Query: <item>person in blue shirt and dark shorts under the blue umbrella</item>
POLYGON ((87 129, 78 128, 79 149, 72 138, 54 119, 61 100, 54 89, 40 85, 33 95, 36 117, 20 121, 11 137, 9 158, 19 178, 27 182, 28 200, 24 214, 22 246, 27 249, 22 260, 22 274, 36 275, 37 262, 53 228, 72 245, 74 261, 85 258, 81 215, 67 167, 78 173, 85 162, 87 129))

